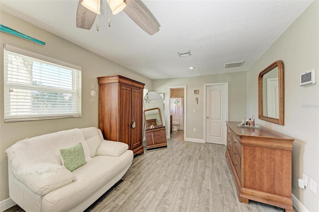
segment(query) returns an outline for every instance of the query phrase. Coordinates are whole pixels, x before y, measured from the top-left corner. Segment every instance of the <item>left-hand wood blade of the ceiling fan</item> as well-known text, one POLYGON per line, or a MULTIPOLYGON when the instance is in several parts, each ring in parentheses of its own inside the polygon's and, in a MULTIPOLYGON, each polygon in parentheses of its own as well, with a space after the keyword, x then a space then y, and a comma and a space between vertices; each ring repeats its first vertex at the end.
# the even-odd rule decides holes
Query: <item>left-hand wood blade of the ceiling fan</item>
POLYGON ((97 14, 83 6, 81 4, 82 1, 83 0, 79 1, 78 10, 76 12, 76 27, 91 29, 97 14))

